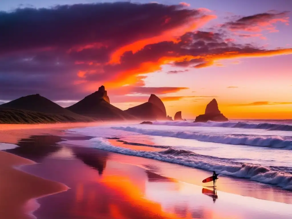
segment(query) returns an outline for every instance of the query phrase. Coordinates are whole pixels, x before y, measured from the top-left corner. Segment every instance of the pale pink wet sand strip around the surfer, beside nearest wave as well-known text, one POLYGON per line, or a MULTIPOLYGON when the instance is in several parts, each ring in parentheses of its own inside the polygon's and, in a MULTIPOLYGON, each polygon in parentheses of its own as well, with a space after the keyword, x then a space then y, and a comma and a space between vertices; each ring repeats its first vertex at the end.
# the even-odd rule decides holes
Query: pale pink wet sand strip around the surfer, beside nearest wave
MULTIPOLYGON (((154 145, 148 139, 148 144, 154 145)), ((114 145, 121 147, 120 142, 117 140, 109 140, 109 142, 114 145)), ((133 145, 123 145, 129 149, 134 149, 139 146, 133 145)), ((143 147, 143 150, 152 151, 151 147, 143 147)), ((154 148, 157 149, 157 148, 154 148)), ((159 149, 159 148, 158 148, 159 149)), ((135 149, 136 150, 136 149, 135 149)), ((165 150, 165 149, 164 149, 165 150)), ((167 162, 161 162, 157 160, 150 160, 143 157, 126 156, 121 154, 113 153, 113 159, 117 162, 137 165, 142 168, 151 170, 159 175, 168 176, 175 178, 177 180, 183 181, 185 183, 191 183, 200 186, 213 186, 213 182, 202 183, 202 180, 211 176, 212 173, 209 171, 204 171, 196 168, 190 168, 187 166, 182 166, 178 164, 171 164, 167 162)), ((239 194, 242 196, 253 197, 257 199, 264 199, 268 201, 283 202, 286 204, 292 204, 292 192, 281 189, 280 187, 275 187, 268 184, 259 183, 256 181, 251 181, 247 179, 232 178, 228 176, 219 176, 216 183, 216 190, 223 192, 239 194)))

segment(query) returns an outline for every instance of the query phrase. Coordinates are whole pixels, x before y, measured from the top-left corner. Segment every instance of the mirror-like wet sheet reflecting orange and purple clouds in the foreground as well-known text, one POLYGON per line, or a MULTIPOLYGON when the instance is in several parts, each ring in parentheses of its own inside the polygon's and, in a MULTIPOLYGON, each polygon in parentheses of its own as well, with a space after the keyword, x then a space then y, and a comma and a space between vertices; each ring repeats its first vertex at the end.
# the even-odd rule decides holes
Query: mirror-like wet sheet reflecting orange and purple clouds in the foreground
MULTIPOLYGON (((155 163, 148 169, 140 165, 117 162, 112 153, 94 148, 69 147, 70 159, 44 158, 38 165, 25 166, 25 171, 67 185, 66 192, 39 199, 37 218, 113 218, 113 219, 228 219, 289 218, 270 208, 257 212, 260 203, 268 201, 234 194, 218 194, 203 188, 154 173, 155 163), (211 199, 211 198, 212 199, 211 199), (214 205, 213 202, 216 201, 214 205), (256 202, 259 202, 257 204, 256 202), (257 207, 256 207, 257 206, 257 207), (270 217, 269 217, 270 216, 270 217)), ((124 156, 125 161, 129 159, 124 156)), ((219 193, 219 191, 218 191, 219 193)), ((282 203, 271 202, 282 208, 282 203), (281 205, 281 206, 280 206, 281 205)))

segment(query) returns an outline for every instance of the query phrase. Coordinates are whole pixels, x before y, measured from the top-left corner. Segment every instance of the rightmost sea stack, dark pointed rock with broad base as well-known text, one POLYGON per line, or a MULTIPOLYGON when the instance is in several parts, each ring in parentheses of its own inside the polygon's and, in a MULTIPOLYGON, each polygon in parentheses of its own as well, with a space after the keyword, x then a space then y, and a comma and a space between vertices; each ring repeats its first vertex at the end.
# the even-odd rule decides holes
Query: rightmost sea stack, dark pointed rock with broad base
POLYGON ((194 122, 207 122, 207 121, 216 121, 216 122, 225 122, 228 119, 220 112, 218 108, 218 103, 215 99, 208 103, 205 114, 201 114, 196 117, 194 122))

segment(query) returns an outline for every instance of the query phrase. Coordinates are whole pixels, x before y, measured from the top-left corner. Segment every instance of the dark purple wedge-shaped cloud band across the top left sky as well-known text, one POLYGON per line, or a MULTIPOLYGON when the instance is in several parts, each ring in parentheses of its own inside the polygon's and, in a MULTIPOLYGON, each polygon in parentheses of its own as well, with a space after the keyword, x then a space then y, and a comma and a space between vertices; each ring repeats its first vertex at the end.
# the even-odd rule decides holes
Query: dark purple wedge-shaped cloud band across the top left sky
POLYGON ((69 49, 96 42, 116 47, 157 35, 199 14, 179 8, 116 2, 0 12, 0 53, 34 48, 69 49), (171 19, 165 23, 166 18, 171 19))

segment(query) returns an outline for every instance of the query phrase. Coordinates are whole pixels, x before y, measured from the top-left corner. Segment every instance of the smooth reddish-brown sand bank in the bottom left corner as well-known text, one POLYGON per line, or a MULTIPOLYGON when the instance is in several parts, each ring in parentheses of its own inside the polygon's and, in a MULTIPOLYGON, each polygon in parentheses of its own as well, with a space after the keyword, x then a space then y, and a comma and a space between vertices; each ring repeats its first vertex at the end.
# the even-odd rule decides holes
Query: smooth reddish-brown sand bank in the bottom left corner
POLYGON ((34 199, 67 190, 67 186, 19 171, 13 167, 35 162, 0 151, 0 215, 3 219, 31 218, 38 208, 34 199))

